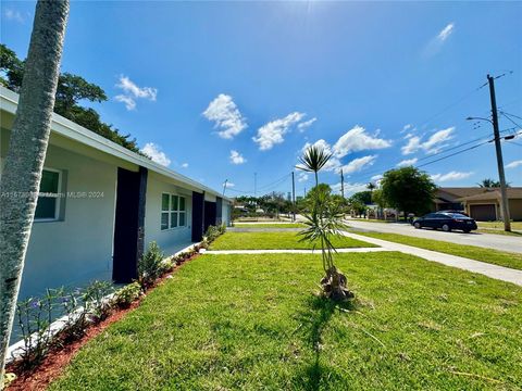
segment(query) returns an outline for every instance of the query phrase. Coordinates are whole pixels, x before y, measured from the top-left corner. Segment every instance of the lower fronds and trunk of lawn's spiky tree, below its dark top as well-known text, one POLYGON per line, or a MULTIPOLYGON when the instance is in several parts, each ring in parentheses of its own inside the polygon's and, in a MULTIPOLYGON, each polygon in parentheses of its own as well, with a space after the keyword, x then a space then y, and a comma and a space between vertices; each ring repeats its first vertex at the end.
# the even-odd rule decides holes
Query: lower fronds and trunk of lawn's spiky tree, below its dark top
POLYGON ((343 223, 343 205, 332 198, 325 187, 315 187, 312 194, 314 202, 310 213, 304 214, 307 228, 299 232, 300 241, 309 241, 314 245, 319 242, 325 276, 321 279, 321 287, 325 297, 333 300, 353 298, 347 288, 346 276, 335 266, 335 247, 332 239, 340 236, 339 231, 346 228, 343 223))

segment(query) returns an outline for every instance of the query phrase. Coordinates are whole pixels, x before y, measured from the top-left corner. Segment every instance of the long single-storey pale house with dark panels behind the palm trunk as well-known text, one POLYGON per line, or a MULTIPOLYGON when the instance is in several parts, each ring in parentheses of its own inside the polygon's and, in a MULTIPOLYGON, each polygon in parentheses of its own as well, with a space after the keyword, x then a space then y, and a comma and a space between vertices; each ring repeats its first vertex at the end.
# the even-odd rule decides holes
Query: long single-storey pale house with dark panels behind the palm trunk
MULTIPOLYGON (((18 96, 0 89, 0 173, 18 96)), ((229 224, 232 201, 53 114, 20 298, 94 279, 128 282, 151 241, 172 254, 229 224)))

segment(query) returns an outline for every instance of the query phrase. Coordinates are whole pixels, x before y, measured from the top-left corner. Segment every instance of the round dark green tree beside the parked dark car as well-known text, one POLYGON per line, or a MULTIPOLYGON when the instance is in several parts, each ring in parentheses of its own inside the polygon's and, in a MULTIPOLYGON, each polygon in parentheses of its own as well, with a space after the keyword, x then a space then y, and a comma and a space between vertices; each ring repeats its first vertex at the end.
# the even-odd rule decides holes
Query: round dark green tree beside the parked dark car
POLYGON ((413 166, 390 169, 381 181, 384 202, 408 213, 423 214, 430 210, 436 189, 430 176, 413 166))

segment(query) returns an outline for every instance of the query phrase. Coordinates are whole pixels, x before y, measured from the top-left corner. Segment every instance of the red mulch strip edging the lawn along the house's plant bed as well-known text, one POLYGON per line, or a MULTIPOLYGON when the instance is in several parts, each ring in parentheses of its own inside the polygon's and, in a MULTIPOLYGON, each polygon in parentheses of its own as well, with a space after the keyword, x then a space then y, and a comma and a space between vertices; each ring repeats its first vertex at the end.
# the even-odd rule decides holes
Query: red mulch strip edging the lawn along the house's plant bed
MULTIPOLYGON (((189 258, 185 260, 181 265, 174 266, 173 270, 166 273, 163 277, 158 279, 153 287, 150 289, 154 289, 167 278, 172 273, 176 272, 181 266, 183 266, 186 262, 194 260, 199 254, 195 254, 189 258)), ((150 291, 149 289, 149 291, 150 291)), ((7 373, 14 373, 16 374, 16 379, 9 384, 7 390, 9 391, 28 391, 28 390, 46 390, 49 383, 57 379, 64 368, 69 365, 71 360, 76 355, 76 353, 92 338, 100 335, 105 328, 112 325, 115 321, 122 319, 126 314, 136 310, 142 298, 139 298, 134 303, 130 304, 128 308, 115 308, 109 315, 109 317, 99 324, 91 325, 85 336, 63 348, 59 348, 57 350, 52 350, 49 354, 44 358, 44 362, 37 366, 35 369, 30 371, 21 371, 21 369, 16 366, 16 363, 9 364, 5 368, 7 373)))

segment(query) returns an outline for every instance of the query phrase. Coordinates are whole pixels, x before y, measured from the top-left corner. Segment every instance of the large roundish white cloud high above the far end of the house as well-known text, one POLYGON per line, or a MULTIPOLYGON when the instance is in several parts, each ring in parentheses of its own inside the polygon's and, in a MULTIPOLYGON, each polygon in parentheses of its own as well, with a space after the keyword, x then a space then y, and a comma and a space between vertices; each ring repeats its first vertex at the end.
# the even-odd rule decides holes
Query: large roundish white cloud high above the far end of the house
POLYGON ((231 96, 220 93, 210 102, 203 116, 214 122, 214 127, 219 128, 217 135, 224 139, 233 139, 247 128, 246 118, 237 109, 231 96))

